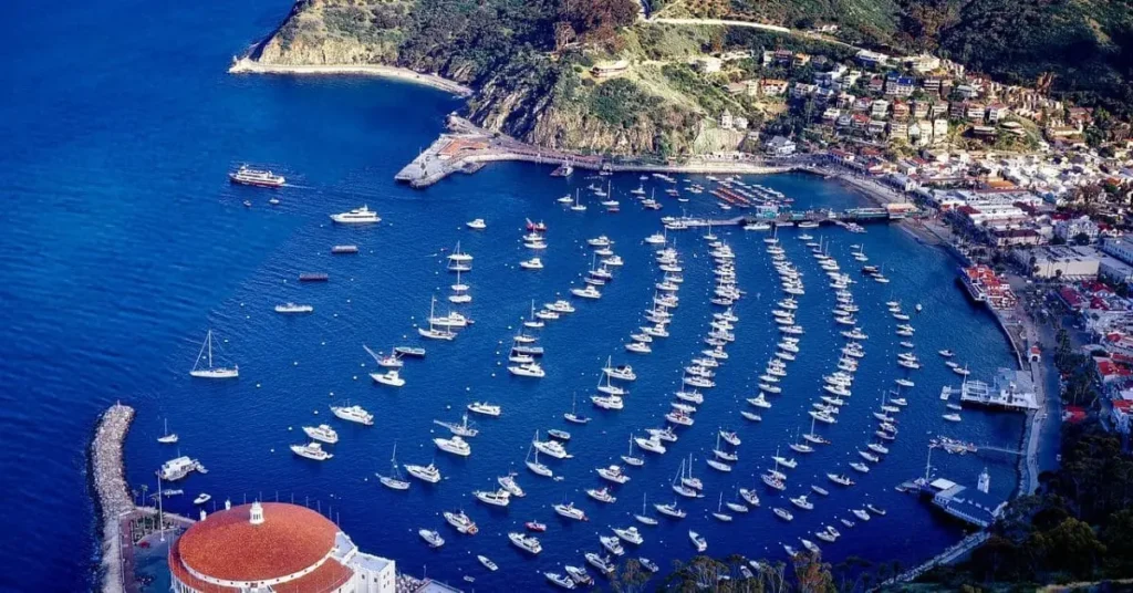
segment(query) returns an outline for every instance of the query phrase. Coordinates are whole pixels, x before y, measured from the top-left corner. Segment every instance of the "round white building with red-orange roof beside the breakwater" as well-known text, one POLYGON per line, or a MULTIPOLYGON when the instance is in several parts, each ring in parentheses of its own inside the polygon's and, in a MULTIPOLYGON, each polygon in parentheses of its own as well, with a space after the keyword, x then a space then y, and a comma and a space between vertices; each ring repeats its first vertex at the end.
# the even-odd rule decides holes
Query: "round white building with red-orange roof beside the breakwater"
POLYGON ((393 593, 393 560, 358 550, 318 512, 253 502, 205 516, 169 549, 176 593, 393 593))

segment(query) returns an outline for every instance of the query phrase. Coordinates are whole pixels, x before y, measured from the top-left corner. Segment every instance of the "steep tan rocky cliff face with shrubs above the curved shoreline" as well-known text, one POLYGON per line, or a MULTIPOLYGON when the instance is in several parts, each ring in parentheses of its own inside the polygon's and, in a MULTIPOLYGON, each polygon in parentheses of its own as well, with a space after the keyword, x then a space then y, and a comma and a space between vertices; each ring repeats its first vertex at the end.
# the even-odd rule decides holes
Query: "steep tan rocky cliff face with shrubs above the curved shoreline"
MULTIPOLYGON (((452 15, 448 0, 299 0, 252 58, 437 73, 476 90, 467 105, 474 122, 550 149, 676 154, 706 145, 698 136, 709 113, 696 98, 670 88, 656 71, 649 81, 632 74, 596 81, 582 52, 552 54, 518 43, 519 17, 501 8, 482 14, 493 1, 452 15)), ((525 15, 521 24, 533 22, 543 23, 525 15)))

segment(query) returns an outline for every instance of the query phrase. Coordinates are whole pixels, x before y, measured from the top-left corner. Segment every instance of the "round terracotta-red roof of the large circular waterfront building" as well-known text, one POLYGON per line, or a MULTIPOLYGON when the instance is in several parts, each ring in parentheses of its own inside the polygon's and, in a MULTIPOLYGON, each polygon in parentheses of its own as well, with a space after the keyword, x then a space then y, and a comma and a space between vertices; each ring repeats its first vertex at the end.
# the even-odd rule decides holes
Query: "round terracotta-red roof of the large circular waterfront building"
POLYGON ((249 520, 252 505, 193 525, 178 539, 178 559, 213 578, 266 581, 309 568, 334 548, 339 527, 318 512, 282 502, 263 509, 259 525, 249 520))

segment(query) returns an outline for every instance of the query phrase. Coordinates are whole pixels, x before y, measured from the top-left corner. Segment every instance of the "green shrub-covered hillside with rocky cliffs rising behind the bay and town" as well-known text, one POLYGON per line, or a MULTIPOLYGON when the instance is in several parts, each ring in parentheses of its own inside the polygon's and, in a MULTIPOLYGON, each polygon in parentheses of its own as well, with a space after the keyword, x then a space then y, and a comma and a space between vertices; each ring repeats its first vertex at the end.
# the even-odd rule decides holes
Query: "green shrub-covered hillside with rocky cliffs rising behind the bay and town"
MULTIPOLYGON (((671 17, 738 18, 809 28, 847 42, 930 51, 1004 82, 1084 104, 1133 108, 1133 0, 645 0, 671 17)), ((769 76, 758 60, 706 77, 690 58, 792 49, 846 59, 852 50, 756 29, 642 20, 638 0, 298 0, 253 58, 276 65, 401 66, 477 90, 467 111, 486 128, 555 149, 668 156, 733 149, 730 110, 752 127, 782 105, 724 84, 769 76), (595 65, 625 60, 617 76, 595 65)), ((758 56, 758 53, 756 53, 758 56)))

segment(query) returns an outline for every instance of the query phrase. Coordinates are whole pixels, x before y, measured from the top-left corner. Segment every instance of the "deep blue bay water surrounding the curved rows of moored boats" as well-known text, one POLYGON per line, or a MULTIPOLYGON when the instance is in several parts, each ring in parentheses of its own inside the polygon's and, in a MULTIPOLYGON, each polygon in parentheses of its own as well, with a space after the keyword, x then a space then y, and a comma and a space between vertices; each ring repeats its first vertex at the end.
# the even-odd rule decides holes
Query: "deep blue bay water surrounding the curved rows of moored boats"
MULTIPOLYGON (((7 91, 0 101, 0 439, 6 451, 0 475, 9 494, 0 506, 0 522, 7 526, 0 553, 9 559, 0 571, 0 590, 88 586, 94 518, 84 448, 96 416, 114 400, 138 412, 127 440, 128 474, 136 488, 155 488, 153 471, 176 455, 174 448, 154 442, 162 420, 169 418, 181 435, 180 451, 211 469, 179 484, 190 497, 210 492, 218 503, 278 497, 317 505, 364 549, 394 558, 403 570, 419 574, 427 567, 431 576, 460 585, 462 575, 472 574, 482 590, 542 583, 537 570, 581 564, 581 552, 598 549, 599 532, 630 524, 642 493, 650 502, 672 500, 668 483, 689 454, 707 497, 682 501, 689 510, 683 522, 645 528, 640 556, 663 567, 692 554, 689 528, 707 535, 715 556, 781 559, 781 542, 795 544, 799 536, 869 500, 888 508, 888 516, 842 530, 838 543, 824 547, 829 560, 855 554, 910 565, 959 536, 954 524, 892 486, 923 471, 930 433, 1011 446, 1020 438, 1021 422, 979 412, 966 412, 959 425, 940 420, 939 388, 957 378, 932 353, 955 349, 974 376, 1011 364, 999 331, 965 300, 953 282, 954 264, 943 253, 918 245, 897 228, 870 227, 866 235, 815 232, 830 242, 830 253, 846 270, 855 269, 850 245, 863 243, 893 282, 854 287, 862 327, 870 334, 854 397, 840 423, 823 431, 834 444, 800 459, 800 467, 790 472, 789 493, 810 483, 829 486, 815 476, 857 459, 853 449, 872 430, 870 410, 900 374, 898 338, 884 302, 902 300, 906 310, 925 305, 913 323, 926 368, 913 375, 917 387, 901 415, 893 451, 869 475, 855 476, 857 488, 829 488, 828 499, 817 499, 816 510, 796 512, 791 524, 770 515, 768 508, 781 497, 768 492, 761 509, 722 526, 708 515, 718 493, 729 499, 734 488, 753 485, 776 447, 785 448, 796 431, 809 426, 806 410, 843 340, 841 327, 830 320, 832 290, 795 239, 799 231, 782 232, 789 256, 806 273, 808 293, 799 319, 807 334, 784 393, 763 412, 764 422, 740 418, 777 337, 768 311, 780 295, 761 237, 718 230, 735 247, 740 285, 749 293, 736 307, 741 321, 731 361, 696 426, 681 431, 668 455, 631 471, 632 481, 616 489, 617 503, 599 506, 583 493, 599 484, 594 468, 623 454, 631 432, 661 424, 680 368, 700 349, 712 312, 710 268, 700 232, 676 237, 687 280, 673 337, 655 345, 651 356, 630 358, 621 344, 640 324, 639 312, 658 278, 651 249, 641 239, 659 229, 662 214, 679 213, 678 204, 666 198, 662 213, 639 211, 624 195, 638 179, 621 176, 613 178, 625 206, 621 214, 597 207, 566 212, 554 198, 590 180, 582 175, 553 179, 548 168, 522 164, 491 166, 424 192, 394 185, 393 173, 432 142, 443 116, 459 103, 382 81, 224 74, 231 54, 270 31, 288 7, 286 1, 215 0, 68 2, 50 12, 23 0, 14 7, 9 23, 20 26, 7 35, 2 51, 10 56, 0 69, 0 88, 7 91), (276 168, 295 187, 273 194, 229 186, 225 172, 244 161, 276 168), (270 206, 270 195, 282 204, 270 206), (245 209, 244 200, 253 207, 245 209), (381 226, 330 225, 327 213, 363 203, 381 213, 381 226), (478 217, 487 220, 487 231, 463 229, 465 221, 478 217), (547 265, 540 272, 516 268, 528 256, 518 240, 526 217, 551 227, 551 248, 543 254, 547 265), (602 300, 578 304, 578 313, 544 332, 546 379, 508 376, 499 365, 501 344, 531 299, 542 304, 580 281, 590 264, 585 239, 599 234, 617 242, 615 251, 627 265, 602 300), (475 300, 465 311, 477 323, 453 344, 426 344, 428 357, 407 364, 408 384, 400 391, 374 386, 365 376, 374 365, 361 345, 383 349, 417 341, 414 324, 427 315, 431 295, 443 298, 452 282, 443 271, 442 251, 457 240, 476 257, 474 272, 465 277, 475 300), (357 243, 363 253, 331 257, 329 247, 339 243, 357 243), (325 271, 331 281, 299 286, 295 280, 304 271, 325 271), (283 300, 310 303, 316 311, 286 319, 271 311, 283 300), (224 354, 240 364, 238 381, 188 376, 208 328, 227 340, 224 354), (572 395, 585 400, 594 391, 608 355, 631 362, 639 374, 627 408, 602 414, 580 403, 595 422, 564 426, 561 414, 572 395), (479 421, 482 433, 472 440, 470 458, 434 454, 429 439, 437 427, 432 421, 455 420, 472 399, 503 405, 504 416, 479 421), (367 407, 380 425, 335 422, 341 442, 325 464, 287 451, 300 441, 299 426, 325 421, 327 405, 346 400, 367 407), (718 426, 735 427, 743 439, 731 475, 704 464, 718 426), (511 466, 522 469, 531 433, 550 427, 566 427, 574 435, 569 444, 573 459, 547 461, 565 481, 537 478, 523 469, 520 480, 528 497, 506 511, 472 500, 474 489, 491 488, 511 466), (394 442, 403 463, 436 457, 446 480, 435 488, 415 483, 408 493, 382 489, 373 473, 386 468, 394 442), (590 522, 560 522, 550 505, 564 497, 582 506, 590 522), (440 512, 455 508, 472 515, 479 535, 457 536, 443 525, 440 512), (551 525, 537 559, 521 557, 505 540, 509 530, 530 519, 551 525), (420 527, 441 530, 448 545, 428 551, 416 535, 420 527), (485 574, 477 553, 492 557, 502 570, 485 574)), ((759 183, 801 206, 866 203, 812 177, 775 176, 759 183)), ((693 214, 715 212, 704 198, 688 207, 693 214)), ((943 475, 972 484, 985 464, 990 464, 994 492, 1008 494, 1015 481, 1011 459, 934 458, 943 475)), ((195 512, 190 507, 187 500, 169 502, 173 510, 195 512)))

